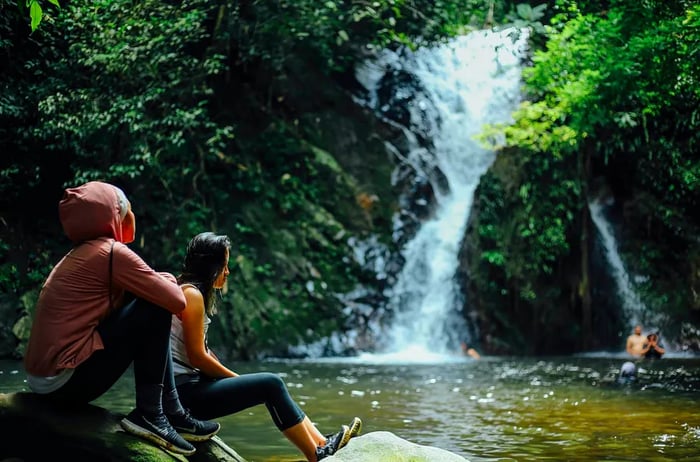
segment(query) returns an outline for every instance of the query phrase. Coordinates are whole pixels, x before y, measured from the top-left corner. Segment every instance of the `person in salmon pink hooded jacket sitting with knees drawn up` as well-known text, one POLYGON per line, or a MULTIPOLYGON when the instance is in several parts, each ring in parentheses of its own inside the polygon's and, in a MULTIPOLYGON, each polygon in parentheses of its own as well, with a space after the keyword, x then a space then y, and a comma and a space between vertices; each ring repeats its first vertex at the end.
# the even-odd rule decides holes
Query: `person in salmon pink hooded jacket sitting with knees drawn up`
POLYGON ((64 191, 63 230, 73 242, 42 286, 24 355, 27 383, 54 402, 81 404, 106 393, 133 363, 132 434, 191 455, 191 441, 220 429, 180 404, 170 352, 172 315, 186 301, 175 277, 127 247, 136 218, 124 192, 91 181, 64 191))

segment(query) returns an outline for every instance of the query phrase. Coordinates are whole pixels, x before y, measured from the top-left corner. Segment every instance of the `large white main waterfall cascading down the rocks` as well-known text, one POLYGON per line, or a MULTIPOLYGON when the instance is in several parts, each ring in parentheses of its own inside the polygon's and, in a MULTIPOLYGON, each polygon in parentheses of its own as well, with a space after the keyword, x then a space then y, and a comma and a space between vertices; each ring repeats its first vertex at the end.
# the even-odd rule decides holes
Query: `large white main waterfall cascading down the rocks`
MULTIPOLYGON (((436 110, 425 111, 419 102, 414 111, 421 112, 411 120, 431 135, 431 158, 449 186, 441 193, 445 188, 433 185, 435 213, 402 250, 405 264, 389 293, 396 316, 384 332, 390 340, 386 354, 415 360, 459 350, 458 343, 446 344, 464 335, 464 321, 455 316, 461 308, 454 280, 458 251, 474 191, 494 160, 494 152, 474 138, 485 124, 511 120, 520 101, 527 38, 527 30, 476 31, 408 55, 386 52, 358 69, 358 80, 374 95, 370 104, 376 104, 377 84, 387 68, 419 80, 436 110)), ((425 162, 425 149, 416 143, 405 158, 415 165, 416 159, 425 162)))

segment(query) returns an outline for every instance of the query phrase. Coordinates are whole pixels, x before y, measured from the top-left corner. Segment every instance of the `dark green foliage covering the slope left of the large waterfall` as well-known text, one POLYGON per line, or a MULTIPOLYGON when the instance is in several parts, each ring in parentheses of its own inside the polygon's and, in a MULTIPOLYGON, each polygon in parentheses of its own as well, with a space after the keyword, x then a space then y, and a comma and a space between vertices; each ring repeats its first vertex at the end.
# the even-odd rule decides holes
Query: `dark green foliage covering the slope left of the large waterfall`
POLYGON ((370 226, 358 182, 300 138, 315 122, 287 120, 287 65, 331 74, 367 50, 439 40, 486 15, 476 0, 90 0, 50 15, 45 5, 26 3, 29 30, 30 11, 0 18, 3 289, 35 289, 68 248, 55 216, 62 189, 111 181, 137 215, 134 249, 155 268, 176 273, 204 229, 231 236, 236 277, 218 334, 242 356, 343 325, 334 294, 359 277, 345 238, 370 226), (27 196, 41 198, 32 214, 27 196))

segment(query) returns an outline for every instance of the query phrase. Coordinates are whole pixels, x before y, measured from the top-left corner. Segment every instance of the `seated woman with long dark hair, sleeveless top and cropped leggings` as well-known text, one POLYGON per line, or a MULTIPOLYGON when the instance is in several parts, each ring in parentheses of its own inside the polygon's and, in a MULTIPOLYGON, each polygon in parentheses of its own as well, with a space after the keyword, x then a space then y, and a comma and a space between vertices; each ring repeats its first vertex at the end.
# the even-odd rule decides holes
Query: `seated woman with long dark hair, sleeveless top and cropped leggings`
POLYGON ((238 374, 209 348, 207 333, 216 299, 229 275, 230 247, 228 236, 211 232, 196 235, 187 245, 182 274, 177 278, 187 306, 173 317, 170 332, 180 399, 193 415, 211 418, 264 404, 277 428, 307 461, 330 457, 360 433, 358 417, 342 425, 339 432, 324 435, 294 402, 278 374, 238 374))

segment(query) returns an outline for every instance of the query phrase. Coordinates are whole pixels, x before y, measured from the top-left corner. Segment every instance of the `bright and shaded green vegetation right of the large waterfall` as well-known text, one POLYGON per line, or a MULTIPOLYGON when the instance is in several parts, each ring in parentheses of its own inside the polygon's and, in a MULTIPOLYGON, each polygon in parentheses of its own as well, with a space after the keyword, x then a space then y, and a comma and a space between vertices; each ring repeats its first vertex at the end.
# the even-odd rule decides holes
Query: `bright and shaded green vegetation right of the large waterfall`
POLYGON ((482 258, 472 272, 491 281, 477 281, 479 296, 496 310, 519 307, 510 322, 528 319, 494 334, 510 332, 510 348, 532 352, 534 337, 535 351, 580 351, 614 346, 601 330, 608 341, 628 335, 619 313, 596 306, 609 293, 592 300, 588 204, 602 197, 617 208, 620 252, 641 276, 635 289, 648 319, 662 314, 655 327, 679 333, 700 314, 700 5, 565 1, 556 9, 524 70, 515 122, 484 132, 504 134, 510 154, 480 187, 473 237, 482 258))

